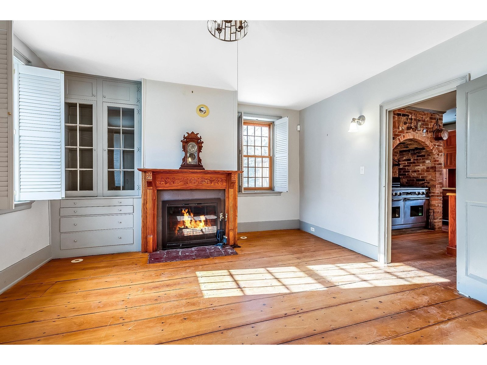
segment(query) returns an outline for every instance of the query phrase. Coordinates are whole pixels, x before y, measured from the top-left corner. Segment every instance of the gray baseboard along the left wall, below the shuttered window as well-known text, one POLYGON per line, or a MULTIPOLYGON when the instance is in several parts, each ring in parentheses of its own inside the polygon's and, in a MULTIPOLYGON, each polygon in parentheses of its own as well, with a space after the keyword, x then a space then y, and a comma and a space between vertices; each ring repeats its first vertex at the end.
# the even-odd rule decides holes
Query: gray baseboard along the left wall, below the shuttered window
POLYGON ((10 289, 24 277, 32 274, 46 262, 51 261, 51 246, 46 246, 34 254, 0 271, 0 293, 10 289))

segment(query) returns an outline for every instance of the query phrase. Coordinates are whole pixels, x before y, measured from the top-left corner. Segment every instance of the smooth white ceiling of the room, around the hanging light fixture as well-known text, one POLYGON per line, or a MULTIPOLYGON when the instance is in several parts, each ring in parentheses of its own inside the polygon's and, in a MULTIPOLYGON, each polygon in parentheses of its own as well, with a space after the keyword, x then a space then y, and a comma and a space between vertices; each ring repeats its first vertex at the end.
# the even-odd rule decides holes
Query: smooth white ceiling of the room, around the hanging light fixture
MULTIPOLYGON (((481 21, 252 21, 239 41, 239 102, 301 110, 481 21)), ((15 21, 51 68, 227 90, 237 45, 205 20, 15 21)))

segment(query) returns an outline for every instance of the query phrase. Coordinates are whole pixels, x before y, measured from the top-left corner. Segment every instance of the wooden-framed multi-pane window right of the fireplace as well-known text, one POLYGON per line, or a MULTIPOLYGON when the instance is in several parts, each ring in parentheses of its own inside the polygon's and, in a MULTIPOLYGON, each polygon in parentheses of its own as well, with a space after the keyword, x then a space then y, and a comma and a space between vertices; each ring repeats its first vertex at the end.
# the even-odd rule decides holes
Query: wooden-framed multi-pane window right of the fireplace
POLYGON ((244 120, 244 190, 272 190, 272 123, 244 120))

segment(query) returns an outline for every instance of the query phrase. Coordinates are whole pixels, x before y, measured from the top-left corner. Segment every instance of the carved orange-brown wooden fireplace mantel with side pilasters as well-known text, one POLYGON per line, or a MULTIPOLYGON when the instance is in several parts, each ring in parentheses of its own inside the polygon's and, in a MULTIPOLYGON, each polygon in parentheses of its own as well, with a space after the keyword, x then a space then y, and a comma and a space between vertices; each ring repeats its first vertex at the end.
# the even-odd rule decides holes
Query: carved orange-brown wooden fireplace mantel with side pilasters
POLYGON ((157 190, 225 189, 228 244, 237 243, 238 174, 243 171, 139 168, 142 172, 142 252, 157 250, 157 190))

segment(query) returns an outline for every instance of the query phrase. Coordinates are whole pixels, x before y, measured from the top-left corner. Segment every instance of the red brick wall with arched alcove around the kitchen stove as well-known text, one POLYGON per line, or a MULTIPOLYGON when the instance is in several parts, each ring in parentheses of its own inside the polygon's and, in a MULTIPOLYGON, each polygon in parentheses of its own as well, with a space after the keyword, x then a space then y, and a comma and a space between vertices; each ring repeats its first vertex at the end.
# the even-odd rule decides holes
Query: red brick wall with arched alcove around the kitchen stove
POLYGON ((398 109, 393 112, 393 177, 403 186, 430 188, 430 209, 434 211, 434 227, 441 229, 443 187, 443 143, 433 139, 436 118, 443 125, 443 115, 398 109), (416 131, 408 126, 420 123, 416 131), (407 124, 404 124, 407 122, 407 124), (423 129, 426 132, 423 133, 423 129))

